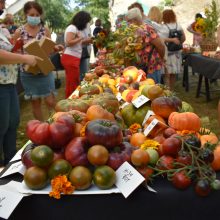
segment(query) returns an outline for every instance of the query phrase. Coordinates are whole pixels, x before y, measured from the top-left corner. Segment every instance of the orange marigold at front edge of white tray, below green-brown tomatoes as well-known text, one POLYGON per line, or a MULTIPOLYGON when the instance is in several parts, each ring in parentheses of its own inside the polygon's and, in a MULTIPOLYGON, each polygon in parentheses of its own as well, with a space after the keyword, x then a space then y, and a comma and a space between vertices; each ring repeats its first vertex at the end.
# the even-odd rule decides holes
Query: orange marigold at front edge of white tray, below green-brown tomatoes
POLYGON ((64 195, 72 194, 75 187, 68 181, 65 175, 56 176, 51 180, 52 191, 49 193, 50 197, 60 199, 61 193, 64 195))

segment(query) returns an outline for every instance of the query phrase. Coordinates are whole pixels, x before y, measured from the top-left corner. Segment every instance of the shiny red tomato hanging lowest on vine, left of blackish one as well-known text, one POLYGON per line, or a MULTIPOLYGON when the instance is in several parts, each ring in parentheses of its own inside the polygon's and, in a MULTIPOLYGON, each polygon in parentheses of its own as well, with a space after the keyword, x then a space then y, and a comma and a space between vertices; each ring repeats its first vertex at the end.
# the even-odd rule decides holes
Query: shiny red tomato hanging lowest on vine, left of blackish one
POLYGON ((190 186, 191 179, 186 175, 185 171, 180 171, 174 174, 172 183, 177 189, 186 189, 190 186))

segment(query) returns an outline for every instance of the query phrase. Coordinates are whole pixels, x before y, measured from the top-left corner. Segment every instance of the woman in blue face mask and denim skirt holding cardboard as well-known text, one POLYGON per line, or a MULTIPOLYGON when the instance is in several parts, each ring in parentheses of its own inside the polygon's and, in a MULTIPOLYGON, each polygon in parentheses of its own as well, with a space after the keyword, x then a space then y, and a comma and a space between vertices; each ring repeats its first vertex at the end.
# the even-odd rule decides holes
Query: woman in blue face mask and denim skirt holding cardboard
MULTIPOLYGON (((48 28, 43 25, 41 20, 41 16, 43 14, 43 8, 41 5, 35 1, 29 1, 25 3, 23 11, 27 22, 15 31, 14 42, 20 38, 25 45, 33 39, 40 40, 43 37, 50 38, 51 34, 48 28)), ((63 49, 61 45, 57 45, 55 47, 57 50, 63 49)), ((31 73, 25 72, 23 66, 21 66, 20 71, 25 99, 31 100, 34 117, 43 121, 41 99, 44 99, 49 111, 53 110, 55 106, 56 90, 54 75, 52 72, 46 76, 42 73, 33 75, 31 73)))

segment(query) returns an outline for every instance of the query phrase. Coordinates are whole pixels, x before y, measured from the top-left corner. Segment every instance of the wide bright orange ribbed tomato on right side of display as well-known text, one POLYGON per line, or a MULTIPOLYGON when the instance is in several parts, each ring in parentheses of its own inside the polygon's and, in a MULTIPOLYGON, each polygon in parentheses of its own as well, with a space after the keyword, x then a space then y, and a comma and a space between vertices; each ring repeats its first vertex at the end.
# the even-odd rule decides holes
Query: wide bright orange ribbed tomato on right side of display
POLYGON ((178 131, 199 131, 201 127, 199 116, 193 112, 172 112, 168 118, 168 124, 178 131))

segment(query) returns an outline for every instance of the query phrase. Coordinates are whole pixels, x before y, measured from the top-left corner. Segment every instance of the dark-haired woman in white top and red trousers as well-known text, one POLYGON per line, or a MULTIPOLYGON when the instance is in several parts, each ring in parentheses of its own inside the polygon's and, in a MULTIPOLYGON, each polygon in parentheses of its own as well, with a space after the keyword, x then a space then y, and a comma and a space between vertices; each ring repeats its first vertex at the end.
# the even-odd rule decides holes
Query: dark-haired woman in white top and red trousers
POLYGON ((82 45, 91 41, 85 39, 82 31, 86 29, 91 16, 88 12, 78 12, 66 28, 64 33, 65 50, 61 58, 61 63, 66 74, 66 98, 77 88, 80 83, 80 59, 82 56, 82 45))

